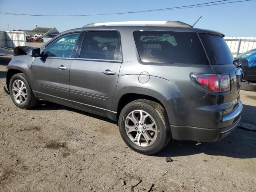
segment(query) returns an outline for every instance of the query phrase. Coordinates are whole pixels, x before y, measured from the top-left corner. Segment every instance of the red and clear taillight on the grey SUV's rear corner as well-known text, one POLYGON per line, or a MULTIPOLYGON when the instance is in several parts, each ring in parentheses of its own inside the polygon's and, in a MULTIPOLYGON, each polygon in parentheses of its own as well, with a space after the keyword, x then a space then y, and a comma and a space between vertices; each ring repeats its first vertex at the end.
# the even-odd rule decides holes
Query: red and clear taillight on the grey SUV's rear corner
POLYGON ((225 92, 230 90, 230 78, 227 74, 192 74, 191 77, 195 84, 210 92, 225 92))

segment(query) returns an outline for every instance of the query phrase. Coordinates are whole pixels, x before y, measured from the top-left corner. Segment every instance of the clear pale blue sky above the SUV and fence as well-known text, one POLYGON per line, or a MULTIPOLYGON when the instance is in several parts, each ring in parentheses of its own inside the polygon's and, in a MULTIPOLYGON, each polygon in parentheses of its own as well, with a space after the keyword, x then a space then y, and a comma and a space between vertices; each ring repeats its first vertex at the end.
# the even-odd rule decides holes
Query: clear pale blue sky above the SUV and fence
MULTIPOLYGON (((58 15, 101 14, 152 10, 212 1, 217 0, 0 0, 0 12, 58 15)), ((193 24, 200 16, 203 16, 196 24, 196 28, 217 30, 226 36, 255 37, 255 12, 256 0, 199 8, 106 16, 44 17, 0 14, 0 30, 8 30, 8 24, 10 30, 32 30, 35 28, 34 24, 37 24, 38 27, 56 27, 62 32, 88 23, 130 20, 178 20, 193 24)))

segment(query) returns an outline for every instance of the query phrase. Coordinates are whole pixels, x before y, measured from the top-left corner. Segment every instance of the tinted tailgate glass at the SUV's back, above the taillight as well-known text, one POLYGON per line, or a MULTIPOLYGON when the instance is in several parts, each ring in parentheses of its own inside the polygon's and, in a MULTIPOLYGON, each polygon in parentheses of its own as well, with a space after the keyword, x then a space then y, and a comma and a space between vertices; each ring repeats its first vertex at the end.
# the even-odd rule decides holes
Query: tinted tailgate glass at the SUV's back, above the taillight
POLYGON ((233 63, 234 57, 224 38, 210 34, 199 34, 199 36, 212 65, 233 63))

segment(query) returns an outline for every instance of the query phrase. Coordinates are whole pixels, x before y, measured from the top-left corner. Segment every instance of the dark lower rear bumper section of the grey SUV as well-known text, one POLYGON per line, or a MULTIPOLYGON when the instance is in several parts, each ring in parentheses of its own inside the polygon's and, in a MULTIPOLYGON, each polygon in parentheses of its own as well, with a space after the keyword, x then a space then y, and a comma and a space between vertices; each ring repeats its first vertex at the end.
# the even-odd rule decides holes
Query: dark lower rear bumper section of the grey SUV
POLYGON ((240 120, 241 116, 231 126, 221 129, 171 125, 172 138, 175 140, 192 140, 201 142, 214 142, 222 140, 238 126, 240 120))

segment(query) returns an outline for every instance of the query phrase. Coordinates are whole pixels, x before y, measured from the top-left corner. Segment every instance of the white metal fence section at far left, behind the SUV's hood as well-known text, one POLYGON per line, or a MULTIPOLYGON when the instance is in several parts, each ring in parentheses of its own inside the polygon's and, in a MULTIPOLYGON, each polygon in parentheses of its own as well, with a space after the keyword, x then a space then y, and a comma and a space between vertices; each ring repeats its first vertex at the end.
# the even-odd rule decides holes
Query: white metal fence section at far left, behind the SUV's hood
POLYGON ((24 31, 1 31, 0 46, 14 48, 26 46, 26 36, 24 31))

